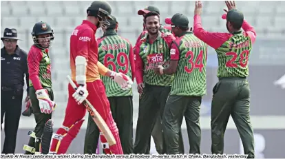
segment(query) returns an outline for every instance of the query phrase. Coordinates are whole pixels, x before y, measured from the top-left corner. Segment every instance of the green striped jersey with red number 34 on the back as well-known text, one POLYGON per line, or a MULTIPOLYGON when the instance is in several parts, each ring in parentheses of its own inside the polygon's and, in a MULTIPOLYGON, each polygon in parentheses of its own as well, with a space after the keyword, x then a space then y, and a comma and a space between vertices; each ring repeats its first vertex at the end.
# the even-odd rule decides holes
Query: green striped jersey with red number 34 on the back
POLYGON ((207 44, 193 32, 184 32, 171 47, 171 60, 179 60, 171 86, 171 95, 203 96, 206 94, 207 44))

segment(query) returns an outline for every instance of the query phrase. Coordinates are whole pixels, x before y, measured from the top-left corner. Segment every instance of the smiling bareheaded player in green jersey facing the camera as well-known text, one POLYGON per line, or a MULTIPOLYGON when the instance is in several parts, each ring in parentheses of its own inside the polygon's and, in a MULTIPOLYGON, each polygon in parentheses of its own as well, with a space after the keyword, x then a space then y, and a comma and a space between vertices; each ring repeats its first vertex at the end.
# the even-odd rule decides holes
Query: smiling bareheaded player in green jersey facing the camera
POLYGON ((141 94, 134 153, 149 153, 151 131, 156 116, 162 116, 169 95, 172 76, 154 74, 154 68, 169 61, 170 43, 175 39, 171 33, 162 33, 157 12, 145 15, 147 36, 136 44, 136 82, 141 94), (145 87, 143 86, 145 83, 145 87))

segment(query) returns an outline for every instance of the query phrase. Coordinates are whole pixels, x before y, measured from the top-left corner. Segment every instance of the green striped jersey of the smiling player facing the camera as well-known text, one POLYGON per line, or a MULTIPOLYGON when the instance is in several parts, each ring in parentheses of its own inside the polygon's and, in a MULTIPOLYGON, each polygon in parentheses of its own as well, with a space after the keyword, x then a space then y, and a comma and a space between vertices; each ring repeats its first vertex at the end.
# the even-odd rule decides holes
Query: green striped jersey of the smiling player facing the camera
POLYGON ((148 36, 140 39, 136 48, 136 65, 143 63, 143 81, 149 85, 169 86, 173 81, 173 76, 154 73, 154 68, 158 65, 164 67, 169 65, 170 45, 175 39, 171 33, 159 32, 153 43, 149 43, 148 36))

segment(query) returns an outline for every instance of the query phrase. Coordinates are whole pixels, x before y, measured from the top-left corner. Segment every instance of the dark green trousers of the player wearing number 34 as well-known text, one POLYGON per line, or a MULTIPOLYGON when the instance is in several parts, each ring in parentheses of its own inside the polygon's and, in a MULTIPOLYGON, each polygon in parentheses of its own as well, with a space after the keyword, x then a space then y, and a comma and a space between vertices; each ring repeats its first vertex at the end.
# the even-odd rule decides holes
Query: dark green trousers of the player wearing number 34
POLYGON ((189 153, 200 154, 201 129, 200 105, 201 96, 176 96, 171 95, 165 105, 162 119, 163 132, 167 145, 167 154, 180 153, 178 149, 179 131, 183 116, 185 117, 189 138, 189 153))

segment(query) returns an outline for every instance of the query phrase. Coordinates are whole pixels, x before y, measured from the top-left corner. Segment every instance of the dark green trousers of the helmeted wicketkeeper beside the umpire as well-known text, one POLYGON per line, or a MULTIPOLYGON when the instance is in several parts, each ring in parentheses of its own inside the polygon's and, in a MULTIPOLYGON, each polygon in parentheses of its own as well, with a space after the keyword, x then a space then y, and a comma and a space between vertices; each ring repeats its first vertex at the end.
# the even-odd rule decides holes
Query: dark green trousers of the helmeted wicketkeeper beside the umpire
MULTIPOLYGON (((54 100, 54 93, 52 92, 52 88, 50 87, 44 87, 44 89, 47 89, 48 95, 50 96, 51 100, 54 100)), ((36 127, 34 128, 34 133, 36 138, 41 138, 43 135, 43 129, 45 127, 45 123, 47 123, 47 120, 50 120, 52 118, 52 114, 44 114, 41 113, 41 109, 39 107, 39 100, 36 98, 36 90, 34 87, 30 87, 30 100, 32 103, 32 110, 34 112, 34 119, 36 120, 36 127)), ((30 137, 28 146, 34 147, 36 152, 40 151, 40 142, 36 142, 36 139, 34 137, 30 137)), ((30 151, 25 151, 25 154, 34 154, 30 151)))

